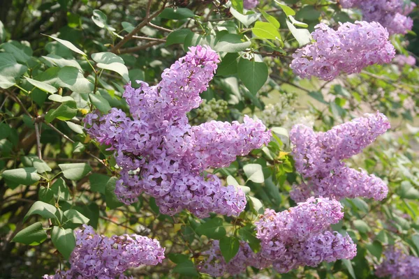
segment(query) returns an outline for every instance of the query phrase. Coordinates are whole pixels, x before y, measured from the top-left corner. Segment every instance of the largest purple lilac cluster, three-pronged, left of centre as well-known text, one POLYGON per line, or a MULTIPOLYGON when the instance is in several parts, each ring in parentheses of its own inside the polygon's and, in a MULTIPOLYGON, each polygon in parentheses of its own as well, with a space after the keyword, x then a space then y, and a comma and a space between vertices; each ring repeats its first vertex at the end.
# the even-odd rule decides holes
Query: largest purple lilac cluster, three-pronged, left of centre
POLYGON ((88 114, 87 133, 116 150, 121 167, 115 194, 125 204, 145 192, 156 198, 161 213, 189 209, 203 218, 244 210, 246 198, 234 186, 221 186, 209 167, 226 167, 270 141, 261 121, 244 116, 244 123, 211 121, 190 126, 186 112, 201 103, 214 76, 219 56, 207 46, 190 47, 186 56, 163 71, 161 82, 139 89, 126 86, 124 98, 133 119, 112 109, 103 116, 88 114))

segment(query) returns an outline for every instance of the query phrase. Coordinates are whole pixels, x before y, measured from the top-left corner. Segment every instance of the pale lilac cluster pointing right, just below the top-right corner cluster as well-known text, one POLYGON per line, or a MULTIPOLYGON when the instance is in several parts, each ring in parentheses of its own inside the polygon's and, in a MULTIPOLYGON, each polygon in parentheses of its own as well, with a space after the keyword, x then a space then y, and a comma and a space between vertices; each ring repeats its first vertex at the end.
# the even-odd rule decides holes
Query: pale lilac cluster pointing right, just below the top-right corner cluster
POLYGON ((337 31, 323 23, 315 28, 311 36, 316 42, 293 54, 290 67, 299 77, 333 80, 340 72, 360 73, 369 65, 390 63, 395 56, 387 30, 376 22, 346 22, 337 31))

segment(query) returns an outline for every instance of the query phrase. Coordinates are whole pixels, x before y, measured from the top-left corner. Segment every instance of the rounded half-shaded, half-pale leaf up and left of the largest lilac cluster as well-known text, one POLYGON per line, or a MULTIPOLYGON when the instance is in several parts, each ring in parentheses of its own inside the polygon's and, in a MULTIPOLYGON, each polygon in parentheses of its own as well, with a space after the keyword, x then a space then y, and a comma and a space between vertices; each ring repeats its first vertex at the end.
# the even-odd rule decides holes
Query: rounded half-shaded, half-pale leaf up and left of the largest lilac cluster
POLYGON ((58 72, 58 78, 61 86, 77 93, 91 93, 94 89, 94 84, 87 80, 75 67, 66 66, 61 68, 58 72))

